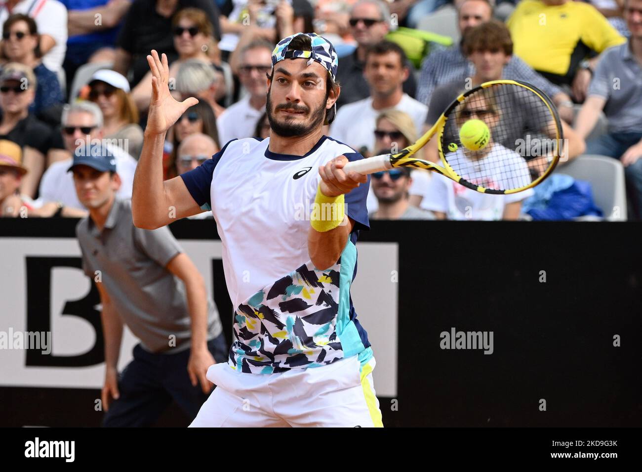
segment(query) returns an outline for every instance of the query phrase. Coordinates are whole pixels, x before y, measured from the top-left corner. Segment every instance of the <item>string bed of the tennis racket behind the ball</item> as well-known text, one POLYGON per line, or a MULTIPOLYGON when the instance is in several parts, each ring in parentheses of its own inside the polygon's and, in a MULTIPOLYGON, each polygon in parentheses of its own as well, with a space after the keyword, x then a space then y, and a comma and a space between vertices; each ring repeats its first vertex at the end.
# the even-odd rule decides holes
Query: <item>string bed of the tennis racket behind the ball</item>
MULTIPOLYGON (((446 115, 442 134, 444 159, 468 187, 490 191, 524 188, 539 179, 557 155, 559 131, 551 109, 535 92, 512 83, 476 89, 446 115), (482 127, 464 131, 478 119, 489 130, 486 146, 475 149, 482 127), (472 143, 471 143, 472 141, 472 143), (473 149, 470 149, 473 148, 473 149)), ((480 125, 480 123, 477 123, 480 125)))

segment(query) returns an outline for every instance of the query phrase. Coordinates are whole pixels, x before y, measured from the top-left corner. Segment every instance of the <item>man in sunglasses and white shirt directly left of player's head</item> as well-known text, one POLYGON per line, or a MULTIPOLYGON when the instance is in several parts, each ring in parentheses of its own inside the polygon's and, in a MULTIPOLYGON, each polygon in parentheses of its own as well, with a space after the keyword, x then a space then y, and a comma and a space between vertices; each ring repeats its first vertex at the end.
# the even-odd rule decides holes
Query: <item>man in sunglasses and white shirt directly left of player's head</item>
POLYGON ((238 76, 247 95, 228 107, 216 120, 221 146, 232 139, 254 134, 256 123, 265 112, 268 86, 265 76, 272 69, 273 46, 265 40, 256 40, 240 51, 238 76))

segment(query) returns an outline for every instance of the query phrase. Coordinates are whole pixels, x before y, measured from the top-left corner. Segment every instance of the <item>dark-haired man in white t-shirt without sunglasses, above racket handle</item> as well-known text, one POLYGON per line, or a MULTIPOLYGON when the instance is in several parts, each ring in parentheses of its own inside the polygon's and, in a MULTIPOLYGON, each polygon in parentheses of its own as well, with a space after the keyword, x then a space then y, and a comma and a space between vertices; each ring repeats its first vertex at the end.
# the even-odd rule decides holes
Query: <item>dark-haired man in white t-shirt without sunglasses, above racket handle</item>
POLYGON ((383 40, 370 46, 363 71, 370 98, 340 108, 331 127, 331 137, 360 152, 365 148, 365 152, 372 153, 377 115, 392 108, 408 113, 417 132, 421 130, 428 109, 403 91, 403 83, 410 74, 405 59, 403 49, 394 42, 383 40))

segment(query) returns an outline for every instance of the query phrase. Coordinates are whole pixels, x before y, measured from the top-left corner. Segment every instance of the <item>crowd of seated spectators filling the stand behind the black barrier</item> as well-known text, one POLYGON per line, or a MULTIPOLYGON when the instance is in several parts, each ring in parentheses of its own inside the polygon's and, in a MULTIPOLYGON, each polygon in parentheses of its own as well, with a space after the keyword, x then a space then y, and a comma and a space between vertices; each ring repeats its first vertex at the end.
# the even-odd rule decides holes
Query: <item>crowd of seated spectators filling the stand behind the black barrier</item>
MULTIPOLYGON (((118 195, 130 197, 152 49, 168 57, 173 96, 199 100, 168 132, 166 178, 231 139, 268 138, 272 50, 301 31, 331 40, 339 55, 341 92, 325 133, 365 157, 413 143, 465 89, 521 80, 555 103, 564 161, 590 154, 621 163, 629 219, 642 219, 642 0, 4 0, 0 25, 2 216, 86 214, 67 170, 74 153, 96 148, 114 157, 118 195), (456 44, 416 29, 440 9, 454 12, 456 44), (408 34, 391 34, 399 28, 408 34), (420 67, 403 39, 413 33, 420 67), (596 134, 598 123, 605 130, 596 134)), ((519 137, 513 125, 508 141, 519 137)), ((436 146, 422 155, 439 158, 436 146)), ((497 197, 427 171, 391 170, 373 175, 368 207, 373 219, 555 218, 562 213, 528 212, 573 185, 550 180, 544 191, 497 197)))

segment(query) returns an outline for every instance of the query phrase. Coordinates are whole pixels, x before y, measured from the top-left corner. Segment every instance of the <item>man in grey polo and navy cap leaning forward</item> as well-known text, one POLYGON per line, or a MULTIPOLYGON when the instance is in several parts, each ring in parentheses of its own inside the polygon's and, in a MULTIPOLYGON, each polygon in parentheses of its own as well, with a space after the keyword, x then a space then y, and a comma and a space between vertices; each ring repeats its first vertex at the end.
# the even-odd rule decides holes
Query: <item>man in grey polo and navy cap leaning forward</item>
POLYGON ((115 162, 92 144, 75 153, 69 168, 89 210, 76 227, 83 270, 96 281, 103 306, 103 425, 149 426, 172 399, 191 421, 212 388, 207 369, 227 361, 221 322, 202 276, 169 229, 136 228, 130 200, 116 199, 115 162), (118 376, 125 324, 140 344, 118 376))

